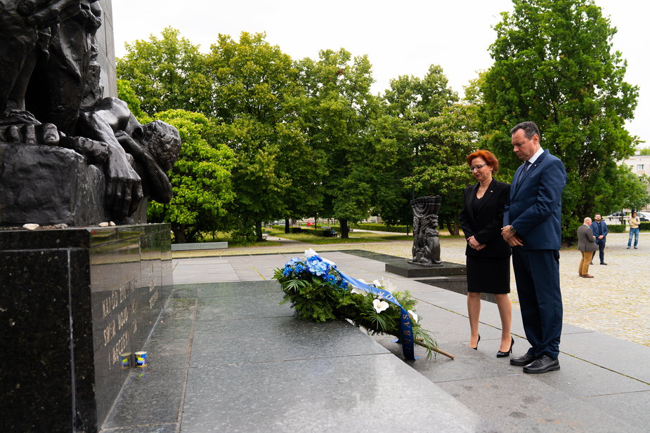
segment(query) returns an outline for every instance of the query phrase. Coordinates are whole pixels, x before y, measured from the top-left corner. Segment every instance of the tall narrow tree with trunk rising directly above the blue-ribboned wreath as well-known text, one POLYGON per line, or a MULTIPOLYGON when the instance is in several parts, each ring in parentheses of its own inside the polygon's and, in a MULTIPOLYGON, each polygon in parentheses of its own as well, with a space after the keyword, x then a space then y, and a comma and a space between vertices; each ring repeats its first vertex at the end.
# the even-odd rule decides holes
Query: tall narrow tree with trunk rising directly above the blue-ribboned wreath
POLYGON ((375 153, 371 121, 377 116, 377 98, 370 93, 372 67, 368 56, 352 57, 341 48, 323 50, 318 61, 297 63, 306 89, 302 110, 308 145, 318 149, 328 175, 321 178, 325 218, 337 218, 341 236, 348 222, 363 220, 372 206, 375 173, 369 161, 375 153))

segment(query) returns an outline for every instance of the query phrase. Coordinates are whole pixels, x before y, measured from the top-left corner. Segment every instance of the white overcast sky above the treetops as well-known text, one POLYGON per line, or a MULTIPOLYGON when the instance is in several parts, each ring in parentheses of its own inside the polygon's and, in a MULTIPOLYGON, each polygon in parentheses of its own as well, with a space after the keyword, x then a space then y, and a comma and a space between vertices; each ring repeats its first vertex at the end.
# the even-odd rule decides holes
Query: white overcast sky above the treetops
MULTIPOLYGON (((618 28, 614 49, 628 60, 625 76, 638 85, 639 105, 628 131, 650 147, 650 1, 596 0, 618 28), (646 125, 644 128, 643 125, 646 125)), ((229 34, 266 32, 266 41, 294 59, 318 58, 321 49, 345 48, 367 54, 379 93, 400 75, 424 76, 432 63, 441 65, 450 86, 463 86, 492 64, 488 47, 493 25, 510 0, 112 0, 115 51, 124 43, 160 36, 171 26, 203 51, 229 34)))

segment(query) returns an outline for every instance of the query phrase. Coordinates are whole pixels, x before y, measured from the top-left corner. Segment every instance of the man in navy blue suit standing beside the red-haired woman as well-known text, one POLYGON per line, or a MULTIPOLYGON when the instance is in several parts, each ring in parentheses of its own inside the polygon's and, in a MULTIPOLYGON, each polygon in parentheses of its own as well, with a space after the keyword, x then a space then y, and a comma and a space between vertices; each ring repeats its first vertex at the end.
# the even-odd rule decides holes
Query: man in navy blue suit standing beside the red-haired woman
POLYGON ((524 373, 559 370, 562 296, 559 248, 562 239, 564 164, 540 147, 540 130, 531 121, 510 131, 512 147, 524 161, 512 178, 501 235, 512 246, 512 267, 521 319, 531 344, 521 357, 510 359, 524 373))

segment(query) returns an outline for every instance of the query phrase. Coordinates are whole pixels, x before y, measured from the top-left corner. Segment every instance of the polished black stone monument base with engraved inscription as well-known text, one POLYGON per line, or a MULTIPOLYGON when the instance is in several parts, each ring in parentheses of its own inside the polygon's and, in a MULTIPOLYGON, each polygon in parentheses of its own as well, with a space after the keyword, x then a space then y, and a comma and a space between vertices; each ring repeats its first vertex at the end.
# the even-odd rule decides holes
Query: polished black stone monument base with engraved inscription
POLYGON ((100 429, 171 293, 169 229, 0 229, 3 432, 100 429))

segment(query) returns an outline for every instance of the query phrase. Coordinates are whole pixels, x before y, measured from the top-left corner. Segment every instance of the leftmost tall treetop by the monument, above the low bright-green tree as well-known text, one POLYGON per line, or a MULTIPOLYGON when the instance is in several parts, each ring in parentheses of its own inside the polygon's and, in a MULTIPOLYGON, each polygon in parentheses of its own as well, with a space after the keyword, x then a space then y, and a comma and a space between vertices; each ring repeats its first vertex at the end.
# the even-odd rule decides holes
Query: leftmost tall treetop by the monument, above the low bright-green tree
POLYGON ((129 82, 145 112, 185 109, 211 115, 212 82, 204 55, 171 27, 160 39, 152 35, 126 44, 126 55, 117 59, 117 78, 129 82))

